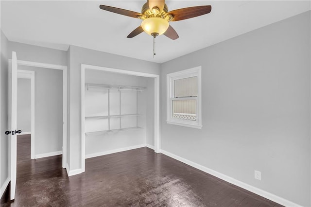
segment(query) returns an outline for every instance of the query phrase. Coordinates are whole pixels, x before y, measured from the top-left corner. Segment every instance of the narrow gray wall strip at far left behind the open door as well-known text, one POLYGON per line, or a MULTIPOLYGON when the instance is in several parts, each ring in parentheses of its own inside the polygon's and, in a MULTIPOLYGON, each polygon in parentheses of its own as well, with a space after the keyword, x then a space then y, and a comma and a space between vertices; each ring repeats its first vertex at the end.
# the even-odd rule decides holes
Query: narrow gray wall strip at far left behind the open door
MULTIPOLYGON (((8 130, 8 39, 0 31, 1 35, 1 58, 0 58, 0 188, 8 178, 8 136, 3 132, 8 130)), ((0 195, 1 196, 1 195, 0 195)))

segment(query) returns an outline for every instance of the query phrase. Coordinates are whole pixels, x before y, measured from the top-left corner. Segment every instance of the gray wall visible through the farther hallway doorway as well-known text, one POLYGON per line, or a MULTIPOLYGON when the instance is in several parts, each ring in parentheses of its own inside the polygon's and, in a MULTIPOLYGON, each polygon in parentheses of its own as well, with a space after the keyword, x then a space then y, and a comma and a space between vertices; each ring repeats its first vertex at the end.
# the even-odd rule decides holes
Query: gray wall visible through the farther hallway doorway
POLYGON ((17 129, 31 132, 30 79, 17 79, 17 129))

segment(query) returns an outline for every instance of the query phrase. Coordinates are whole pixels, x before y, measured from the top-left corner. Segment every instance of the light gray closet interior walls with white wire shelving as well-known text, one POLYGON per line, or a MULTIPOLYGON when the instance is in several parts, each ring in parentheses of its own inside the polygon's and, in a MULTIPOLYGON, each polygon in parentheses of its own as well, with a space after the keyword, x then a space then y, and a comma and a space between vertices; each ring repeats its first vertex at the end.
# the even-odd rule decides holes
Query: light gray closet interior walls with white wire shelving
POLYGON ((86 158, 154 145, 153 78, 86 69, 85 83, 86 158))

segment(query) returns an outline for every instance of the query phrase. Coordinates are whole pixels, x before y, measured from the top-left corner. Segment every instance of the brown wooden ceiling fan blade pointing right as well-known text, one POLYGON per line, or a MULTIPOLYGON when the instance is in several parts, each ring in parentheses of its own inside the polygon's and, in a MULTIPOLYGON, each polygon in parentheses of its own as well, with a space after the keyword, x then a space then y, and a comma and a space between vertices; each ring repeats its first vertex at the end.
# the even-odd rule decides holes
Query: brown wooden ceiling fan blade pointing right
POLYGON ((193 6, 188 8, 176 9, 167 13, 173 15, 171 21, 180 21, 188 18, 198 17, 210 13, 212 7, 208 6, 193 6))

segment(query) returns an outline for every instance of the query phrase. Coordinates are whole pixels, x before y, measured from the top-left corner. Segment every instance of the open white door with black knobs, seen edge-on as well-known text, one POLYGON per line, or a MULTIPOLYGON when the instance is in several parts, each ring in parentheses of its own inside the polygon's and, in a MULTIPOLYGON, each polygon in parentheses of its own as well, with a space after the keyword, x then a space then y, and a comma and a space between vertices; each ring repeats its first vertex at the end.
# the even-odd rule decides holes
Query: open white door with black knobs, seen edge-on
POLYGON ((11 200, 15 199, 16 173, 17 173, 17 57, 12 52, 12 61, 9 65, 9 175, 11 178, 11 200))

